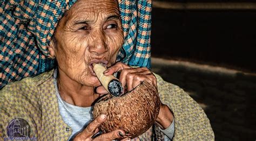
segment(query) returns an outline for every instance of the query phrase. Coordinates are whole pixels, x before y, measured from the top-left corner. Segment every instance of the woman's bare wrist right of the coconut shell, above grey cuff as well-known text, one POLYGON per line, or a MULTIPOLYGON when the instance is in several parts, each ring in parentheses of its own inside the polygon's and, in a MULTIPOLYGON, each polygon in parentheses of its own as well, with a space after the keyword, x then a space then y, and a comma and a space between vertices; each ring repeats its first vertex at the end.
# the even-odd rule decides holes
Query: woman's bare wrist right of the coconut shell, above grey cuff
POLYGON ((174 116, 165 104, 161 104, 156 123, 160 126, 161 129, 168 128, 173 122, 174 116))

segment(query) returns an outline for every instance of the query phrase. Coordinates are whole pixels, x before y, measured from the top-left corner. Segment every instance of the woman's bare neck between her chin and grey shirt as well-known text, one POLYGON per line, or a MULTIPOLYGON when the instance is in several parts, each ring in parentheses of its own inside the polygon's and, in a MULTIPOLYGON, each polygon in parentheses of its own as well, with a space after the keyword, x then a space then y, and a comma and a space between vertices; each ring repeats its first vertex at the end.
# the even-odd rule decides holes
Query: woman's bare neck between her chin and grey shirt
POLYGON ((57 86, 62 100, 79 107, 90 107, 100 96, 94 93, 94 87, 84 86, 73 81, 61 70, 57 75, 57 86))

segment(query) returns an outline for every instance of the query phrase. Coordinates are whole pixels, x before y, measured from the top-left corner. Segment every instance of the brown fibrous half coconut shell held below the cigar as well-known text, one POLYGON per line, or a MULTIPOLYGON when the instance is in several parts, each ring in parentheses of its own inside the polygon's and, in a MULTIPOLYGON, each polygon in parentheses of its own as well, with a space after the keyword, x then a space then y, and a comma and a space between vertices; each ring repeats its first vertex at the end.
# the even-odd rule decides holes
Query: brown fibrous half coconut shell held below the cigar
POLYGON ((121 129, 125 131, 124 138, 135 138, 152 126, 159 109, 157 88, 143 82, 122 96, 101 98, 93 108, 93 117, 107 115, 106 121, 99 126, 104 133, 121 129))

